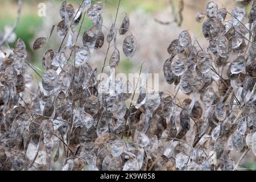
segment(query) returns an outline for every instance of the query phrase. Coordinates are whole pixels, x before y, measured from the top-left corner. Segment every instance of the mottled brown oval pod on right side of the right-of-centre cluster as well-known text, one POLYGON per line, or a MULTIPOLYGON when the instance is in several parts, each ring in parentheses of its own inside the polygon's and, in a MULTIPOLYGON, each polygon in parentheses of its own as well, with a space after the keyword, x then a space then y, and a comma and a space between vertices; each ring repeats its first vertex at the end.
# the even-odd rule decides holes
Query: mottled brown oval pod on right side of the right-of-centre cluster
POLYGON ((207 73, 212 68, 212 55, 208 51, 200 51, 197 54, 197 67, 201 73, 207 73))

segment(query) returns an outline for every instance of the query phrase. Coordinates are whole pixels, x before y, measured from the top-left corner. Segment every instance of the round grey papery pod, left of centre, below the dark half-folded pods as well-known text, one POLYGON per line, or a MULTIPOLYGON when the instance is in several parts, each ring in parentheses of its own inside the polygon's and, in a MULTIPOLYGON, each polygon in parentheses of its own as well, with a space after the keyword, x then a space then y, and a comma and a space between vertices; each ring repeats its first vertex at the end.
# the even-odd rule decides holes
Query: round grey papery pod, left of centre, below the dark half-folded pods
POLYGON ((53 69, 49 69, 42 78, 43 88, 47 91, 51 91, 57 85, 58 75, 53 69))

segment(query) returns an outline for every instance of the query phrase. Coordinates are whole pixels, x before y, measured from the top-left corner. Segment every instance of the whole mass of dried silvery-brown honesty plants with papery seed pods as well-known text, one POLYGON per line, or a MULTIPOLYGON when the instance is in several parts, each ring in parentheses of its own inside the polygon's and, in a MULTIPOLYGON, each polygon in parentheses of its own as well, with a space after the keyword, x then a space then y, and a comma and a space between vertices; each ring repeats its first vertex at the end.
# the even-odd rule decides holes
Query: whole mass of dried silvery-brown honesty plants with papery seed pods
MULTIPOLYGON (((46 72, 37 89, 26 72, 36 69, 24 42, 19 39, 10 55, 0 52, 0 169, 51 170, 59 162, 62 170, 236 170, 248 151, 256 155, 255 6, 247 18, 245 6, 229 12, 209 2, 196 17, 204 21, 208 48, 186 30, 171 42, 164 77, 191 96, 179 102, 177 94, 145 92, 139 84, 130 90, 129 82, 113 80, 120 54, 129 59, 137 48, 129 16, 117 25, 119 5, 104 35, 104 3, 84 0, 78 10, 61 3, 56 30, 63 41, 44 53, 46 72), (74 27, 85 17, 93 26, 80 40, 81 28, 74 27), (122 48, 117 34, 125 35, 122 48), (105 41, 104 67, 109 55, 112 76, 102 82, 89 60, 105 41)), ((33 48, 44 47, 54 30, 33 48)))

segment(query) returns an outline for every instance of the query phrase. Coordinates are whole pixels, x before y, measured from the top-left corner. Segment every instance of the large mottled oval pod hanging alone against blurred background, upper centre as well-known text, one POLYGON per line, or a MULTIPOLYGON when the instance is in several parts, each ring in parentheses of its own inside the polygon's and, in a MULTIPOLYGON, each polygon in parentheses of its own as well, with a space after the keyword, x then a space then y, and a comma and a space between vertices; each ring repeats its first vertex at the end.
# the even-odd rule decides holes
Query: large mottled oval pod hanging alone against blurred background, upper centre
POLYGON ((133 35, 128 35, 125 40, 123 40, 123 53, 125 53, 128 59, 134 56, 136 44, 137 42, 133 35))

